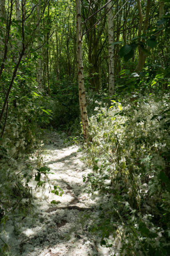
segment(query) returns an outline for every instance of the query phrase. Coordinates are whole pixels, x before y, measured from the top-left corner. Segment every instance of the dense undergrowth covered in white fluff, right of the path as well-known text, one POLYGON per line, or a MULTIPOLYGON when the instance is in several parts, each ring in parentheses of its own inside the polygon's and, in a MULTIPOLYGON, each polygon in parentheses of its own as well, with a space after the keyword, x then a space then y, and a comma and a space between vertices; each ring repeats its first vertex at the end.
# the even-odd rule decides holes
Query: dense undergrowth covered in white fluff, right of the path
POLYGON ((99 105, 90 118, 86 162, 93 172, 83 179, 103 197, 90 230, 107 247, 119 237, 121 255, 168 255, 169 96, 136 98, 99 105))

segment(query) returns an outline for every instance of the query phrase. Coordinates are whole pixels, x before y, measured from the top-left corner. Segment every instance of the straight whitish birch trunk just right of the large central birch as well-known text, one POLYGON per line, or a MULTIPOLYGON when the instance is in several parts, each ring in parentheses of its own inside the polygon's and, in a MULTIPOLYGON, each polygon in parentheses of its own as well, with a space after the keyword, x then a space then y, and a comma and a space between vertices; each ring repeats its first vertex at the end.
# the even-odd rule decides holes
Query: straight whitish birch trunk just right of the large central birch
POLYGON ((112 2, 107 5, 109 12, 107 13, 108 20, 108 57, 109 57, 109 95, 112 96, 115 91, 115 72, 114 72, 114 26, 113 26, 113 12, 112 2))

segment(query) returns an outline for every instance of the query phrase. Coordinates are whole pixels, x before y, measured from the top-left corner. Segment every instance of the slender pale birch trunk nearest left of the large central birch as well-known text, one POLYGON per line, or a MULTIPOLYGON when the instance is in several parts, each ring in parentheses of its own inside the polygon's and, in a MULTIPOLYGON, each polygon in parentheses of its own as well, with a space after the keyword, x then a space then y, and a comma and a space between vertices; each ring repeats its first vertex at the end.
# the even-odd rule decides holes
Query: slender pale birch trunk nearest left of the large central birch
MULTIPOLYGON (((37 47, 41 46, 40 41, 40 10, 41 10, 41 0, 39 0, 37 5, 37 47)), ((38 54, 41 56, 41 49, 38 49, 38 54)), ((37 68, 37 82, 38 87, 42 90, 42 59, 38 58, 38 68, 37 68)))

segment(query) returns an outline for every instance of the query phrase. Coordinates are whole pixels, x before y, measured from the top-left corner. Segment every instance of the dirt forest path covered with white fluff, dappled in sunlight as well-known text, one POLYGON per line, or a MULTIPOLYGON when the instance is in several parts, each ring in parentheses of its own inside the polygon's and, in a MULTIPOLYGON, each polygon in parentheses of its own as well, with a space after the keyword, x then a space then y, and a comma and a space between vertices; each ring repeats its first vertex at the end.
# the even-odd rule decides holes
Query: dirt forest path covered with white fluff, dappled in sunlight
MULTIPOLYGON (((92 209, 96 200, 84 192, 86 184, 82 174, 91 169, 80 161, 79 146, 67 146, 56 132, 51 132, 42 153, 43 163, 50 167, 51 186, 60 186, 62 197, 49 193, 46 183, 42 189, 33 191, 34 212, 28 215, 23 224, 20 255, 23 256, 109 256, 109 248, 100 246, 100 238, 95 238, 86 225, 82 230, 83 214, 94 216, 92 209), (57 205, 50 202, 56 200, 57 205), (90 209, 90 210, 88 210, 90 209), (85 211, 84 211, 85 210, 85 211)), ((34 184, 30 184, 32 187, 34 184)))

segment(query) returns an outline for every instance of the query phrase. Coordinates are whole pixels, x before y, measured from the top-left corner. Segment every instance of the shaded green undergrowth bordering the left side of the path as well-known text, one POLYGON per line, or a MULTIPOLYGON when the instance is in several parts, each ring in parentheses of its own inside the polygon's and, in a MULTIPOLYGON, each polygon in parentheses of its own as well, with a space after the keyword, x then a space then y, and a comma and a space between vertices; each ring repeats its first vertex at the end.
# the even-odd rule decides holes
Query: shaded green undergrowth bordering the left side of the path
MULTIPOLYGON (((34 179, 36 187, 42 189, 49 182, 50 169, 40 155, 35 156, 36 164, 29 158, 45 138, 43 128, 51 118, 51 110, 45 109, 48 101, 37 90, 20 97, 18 102, 12 97, 7 105, 7 117, 0 126, 0 255, 10 253, 6 223, 12 220, 15 223, 30 213, 32 189, 35 189, 29 185, 30 180, 34 179)), ((53 190, 55 194, 60 191, 58 187, 50 188, 53 190)))

